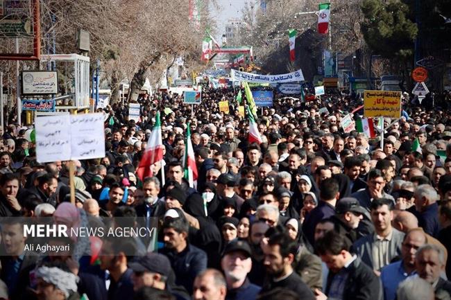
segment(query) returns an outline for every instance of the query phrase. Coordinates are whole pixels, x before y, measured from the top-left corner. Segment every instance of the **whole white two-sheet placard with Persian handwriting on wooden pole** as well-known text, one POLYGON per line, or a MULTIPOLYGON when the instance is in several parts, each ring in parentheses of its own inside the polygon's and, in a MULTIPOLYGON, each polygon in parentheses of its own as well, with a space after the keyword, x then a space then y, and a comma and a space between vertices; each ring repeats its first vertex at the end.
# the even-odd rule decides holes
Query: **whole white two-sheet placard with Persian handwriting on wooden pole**
POLYGON ((101 113, 36 117, 37 161, 105 157, 103 119, 101 113))

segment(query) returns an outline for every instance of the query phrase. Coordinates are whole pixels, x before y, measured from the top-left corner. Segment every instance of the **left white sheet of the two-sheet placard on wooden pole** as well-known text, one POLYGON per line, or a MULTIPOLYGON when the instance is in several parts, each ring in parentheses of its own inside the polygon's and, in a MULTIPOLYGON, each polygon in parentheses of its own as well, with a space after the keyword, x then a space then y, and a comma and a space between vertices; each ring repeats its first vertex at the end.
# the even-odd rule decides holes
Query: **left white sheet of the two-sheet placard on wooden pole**
POLYGON ((37 117, 35 129, 37 161, 46 163, 71 158, 69 114, 37 117))

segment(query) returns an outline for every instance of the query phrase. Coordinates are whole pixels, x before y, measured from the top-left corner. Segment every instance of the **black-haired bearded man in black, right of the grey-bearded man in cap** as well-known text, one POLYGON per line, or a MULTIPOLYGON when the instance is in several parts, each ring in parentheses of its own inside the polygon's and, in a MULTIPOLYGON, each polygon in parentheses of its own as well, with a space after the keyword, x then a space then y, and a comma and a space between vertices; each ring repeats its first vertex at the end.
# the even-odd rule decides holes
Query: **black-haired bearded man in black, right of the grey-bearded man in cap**
POLYGON ((263 264, 266 267, 266 283, 263 285, 261 294, 275 288, 284 288, 296 292, 298 299, 315 299, 309 287, 293 270, 292 263, 298 247, 288 233, 271 234, 267 242, 262 243, 262 249, 263 264))

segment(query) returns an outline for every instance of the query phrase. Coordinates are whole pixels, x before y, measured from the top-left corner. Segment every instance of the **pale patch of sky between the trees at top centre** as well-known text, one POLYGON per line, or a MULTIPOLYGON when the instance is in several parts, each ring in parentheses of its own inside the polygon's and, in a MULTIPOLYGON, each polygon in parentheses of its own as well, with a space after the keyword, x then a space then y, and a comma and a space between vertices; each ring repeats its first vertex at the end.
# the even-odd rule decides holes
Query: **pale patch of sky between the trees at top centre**
MULTIPOLYGON (((255 1, 255 0, 250 0, 255 1)), ((212 17, 216 18, 218 31, 215 35, 217 39, 221 38, 226 31, 226 23, 231 18, 241 18, 241 10, 246 4, 246 0, 216 0, 219 10, 211 9, 212 17)))

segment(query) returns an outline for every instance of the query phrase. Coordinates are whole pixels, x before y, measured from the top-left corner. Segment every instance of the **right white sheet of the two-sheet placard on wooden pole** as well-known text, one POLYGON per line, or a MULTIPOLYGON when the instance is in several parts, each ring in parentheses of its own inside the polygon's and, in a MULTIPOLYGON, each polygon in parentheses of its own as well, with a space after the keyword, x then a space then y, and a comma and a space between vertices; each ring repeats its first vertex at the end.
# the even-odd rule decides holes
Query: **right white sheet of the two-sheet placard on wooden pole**
POLYGON ((105 157, 103 114, 71 115, 71 159, 105 157))

